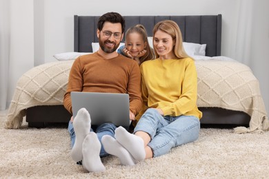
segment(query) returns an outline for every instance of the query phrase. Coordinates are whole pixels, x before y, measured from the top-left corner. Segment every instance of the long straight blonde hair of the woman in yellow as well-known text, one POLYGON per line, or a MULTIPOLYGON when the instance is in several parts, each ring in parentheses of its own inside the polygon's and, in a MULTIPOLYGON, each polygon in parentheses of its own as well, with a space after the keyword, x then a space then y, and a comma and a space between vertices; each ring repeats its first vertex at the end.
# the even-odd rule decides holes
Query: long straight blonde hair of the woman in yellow
MULTIPOLYGON (((155 27, 153 28, 153 39, 157 30, 161 30, 162 32, 165 32, 166 34, 169 34, 170 36, 172 36, 172 40, 175 41, 173 52, 175 56, 177 56, 178 59, 187 58, 187 57, 191 58, 190 56, 188 56, 188 54, 185 52, 183 48, 182 34, 179 29, 179 25, 177 25, 175 21, 171 21, 171 20, 159 21, 159 23, 157 23, 155 27)), ((157 54, 155 48, 154 48, 154 51, 155 51, 156 58, 159 58, 159 54, 157 54)))

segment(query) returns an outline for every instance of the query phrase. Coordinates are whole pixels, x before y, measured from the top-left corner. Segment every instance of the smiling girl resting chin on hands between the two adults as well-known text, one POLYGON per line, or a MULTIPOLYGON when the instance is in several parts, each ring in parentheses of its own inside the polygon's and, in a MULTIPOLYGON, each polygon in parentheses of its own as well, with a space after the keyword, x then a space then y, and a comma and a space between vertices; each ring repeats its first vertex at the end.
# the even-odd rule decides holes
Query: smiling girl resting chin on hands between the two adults
POLYGON ((126 31, 125 45, 119 48, 118 53, 134 59, 139 65, 144 61, 155 59, 143 25, 137 24, 126 31))

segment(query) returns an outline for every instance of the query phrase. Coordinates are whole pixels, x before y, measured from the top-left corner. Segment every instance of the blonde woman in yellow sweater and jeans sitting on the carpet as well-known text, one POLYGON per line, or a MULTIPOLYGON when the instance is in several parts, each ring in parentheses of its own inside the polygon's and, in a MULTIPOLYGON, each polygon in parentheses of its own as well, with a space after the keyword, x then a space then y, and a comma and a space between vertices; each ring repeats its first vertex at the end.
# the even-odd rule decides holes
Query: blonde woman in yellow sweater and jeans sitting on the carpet
POLYGON ((115 140, 109 136, 102 138, 105 149, 112 151, 112 155, 122 158, 115 150, 126 149, 132 156, 130 165, 168 154, 172 147, 191 143, 199 136, 202 114, 196 105, 197 72, 194 60, 183 50, 179 26, 175 21, 161 21, 155 25, 153 34, 157 59, 140 66, 146 112, 141 112, 134 134, 118 127, 115 140))

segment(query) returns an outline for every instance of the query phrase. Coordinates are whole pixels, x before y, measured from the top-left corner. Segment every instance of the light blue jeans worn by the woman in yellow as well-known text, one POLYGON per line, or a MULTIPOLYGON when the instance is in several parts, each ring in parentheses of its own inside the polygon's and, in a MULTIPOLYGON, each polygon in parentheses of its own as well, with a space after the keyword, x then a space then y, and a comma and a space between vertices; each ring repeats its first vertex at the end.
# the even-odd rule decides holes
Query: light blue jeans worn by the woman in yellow
POLYGON ((141 116, 136 131, 150 135, 148 146, 153 156, 168 154, 172 147, 191 143, 199 137, 200 121, 196 116, 161 116, 156 109, 147 109, 141 116))

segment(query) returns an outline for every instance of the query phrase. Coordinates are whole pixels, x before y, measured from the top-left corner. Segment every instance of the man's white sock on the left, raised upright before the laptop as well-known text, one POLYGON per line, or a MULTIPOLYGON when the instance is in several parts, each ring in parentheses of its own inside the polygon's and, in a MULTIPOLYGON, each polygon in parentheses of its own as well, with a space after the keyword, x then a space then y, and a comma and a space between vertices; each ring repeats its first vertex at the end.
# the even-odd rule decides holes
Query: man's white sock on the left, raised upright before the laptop
POLYGON ((90 114, 85 108, 79 109, 77 116, 73 120, 74 134, 76 138, 74 140, 74 146, 71 150, 71 157, 75 162, 82 160, 82 143, 84 138, 90 132, 90 114))

